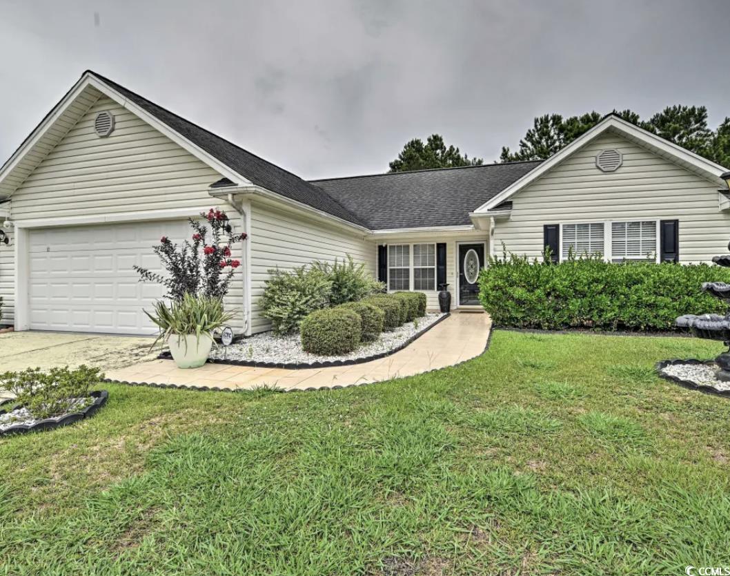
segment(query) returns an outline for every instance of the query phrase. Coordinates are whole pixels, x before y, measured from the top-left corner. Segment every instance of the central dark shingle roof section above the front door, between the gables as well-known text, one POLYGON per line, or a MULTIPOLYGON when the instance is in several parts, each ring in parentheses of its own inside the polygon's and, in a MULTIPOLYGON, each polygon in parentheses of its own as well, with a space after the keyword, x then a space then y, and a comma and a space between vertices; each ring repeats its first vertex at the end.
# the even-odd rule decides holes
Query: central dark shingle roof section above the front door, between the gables
POLYGON ((472 224, 469 212, 542 160, 312 181, 372 230, 472 224))

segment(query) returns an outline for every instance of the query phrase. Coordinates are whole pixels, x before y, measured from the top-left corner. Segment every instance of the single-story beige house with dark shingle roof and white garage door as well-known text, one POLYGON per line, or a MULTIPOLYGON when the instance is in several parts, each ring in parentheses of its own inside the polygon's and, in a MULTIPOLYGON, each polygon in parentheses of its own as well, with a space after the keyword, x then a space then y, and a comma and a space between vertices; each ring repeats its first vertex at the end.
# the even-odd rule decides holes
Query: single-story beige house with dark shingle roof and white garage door
POLYGON ((503 251, 708 262, 730 238, 726 171, 608 115, 545 161, 305 181, 88 71, 0 169, 0 322, 152 333, 162 290, 132 266, 158 268, 152 246, 212 205, 248 235, 226 301, 245 334, 268 327, 268 270, 347 254, 431 308, 439 284, 478 306, 503 251))

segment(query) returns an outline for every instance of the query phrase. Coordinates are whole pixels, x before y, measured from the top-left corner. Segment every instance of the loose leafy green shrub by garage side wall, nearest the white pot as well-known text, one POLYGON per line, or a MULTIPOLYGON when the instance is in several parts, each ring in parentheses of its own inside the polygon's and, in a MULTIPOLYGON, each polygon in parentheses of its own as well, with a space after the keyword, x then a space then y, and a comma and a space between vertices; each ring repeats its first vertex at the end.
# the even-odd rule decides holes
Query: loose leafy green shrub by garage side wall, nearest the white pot
POLYGON ((301 266, 291 271, 269 270, 269 274, 261 296, 261 316, 271 320, 275 334, 296 332, 307 314, 328 305, 332 283, 321 270, 301 266))

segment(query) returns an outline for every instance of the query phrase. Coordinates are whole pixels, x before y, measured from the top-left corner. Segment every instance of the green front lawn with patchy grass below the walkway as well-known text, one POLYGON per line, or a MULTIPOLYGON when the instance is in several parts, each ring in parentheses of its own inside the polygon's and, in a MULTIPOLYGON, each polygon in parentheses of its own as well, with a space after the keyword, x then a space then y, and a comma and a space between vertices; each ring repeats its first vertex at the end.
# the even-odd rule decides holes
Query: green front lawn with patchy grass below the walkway
POLYGON ((730 564, 730 401, 688 338, 496 332, 456 368, 317 393, 110 385, 0 440, 0 574, 683 574, 730 564))

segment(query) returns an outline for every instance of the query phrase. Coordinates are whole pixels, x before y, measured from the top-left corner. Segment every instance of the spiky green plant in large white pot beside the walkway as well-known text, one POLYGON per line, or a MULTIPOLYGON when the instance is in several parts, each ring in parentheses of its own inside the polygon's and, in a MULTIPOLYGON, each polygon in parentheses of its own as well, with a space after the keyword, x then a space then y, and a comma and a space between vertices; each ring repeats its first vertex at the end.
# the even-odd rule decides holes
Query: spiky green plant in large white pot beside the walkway
MULTIPOLYGON (((234 317, 223 310, 223 300, 207 296, 183 295, 169 305, 160 300, 155 311, 145 311, 160 328, 155 340, 165 342, 178 368, 199 368, 204 365, 214 344, 214 332, 234 317)), ((153 344, 154 346, 154 344, 153 344)))

